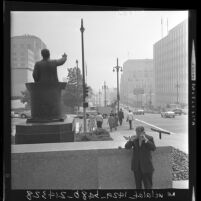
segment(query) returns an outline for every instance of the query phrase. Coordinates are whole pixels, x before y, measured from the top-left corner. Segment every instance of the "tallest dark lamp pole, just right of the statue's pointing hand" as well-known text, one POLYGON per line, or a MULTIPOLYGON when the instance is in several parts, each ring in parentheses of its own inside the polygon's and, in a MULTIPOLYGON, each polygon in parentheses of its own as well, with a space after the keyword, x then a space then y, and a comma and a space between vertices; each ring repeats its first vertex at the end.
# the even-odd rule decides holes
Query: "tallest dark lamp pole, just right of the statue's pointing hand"
POLYGON ((83 19, 81 19, 81 40, 82 40, 82 76, 83 76, 83 119, 84 119, 84 133, 86 133, 86 106, 85 106, 85 72, 84 72, 84 27, 83 19))

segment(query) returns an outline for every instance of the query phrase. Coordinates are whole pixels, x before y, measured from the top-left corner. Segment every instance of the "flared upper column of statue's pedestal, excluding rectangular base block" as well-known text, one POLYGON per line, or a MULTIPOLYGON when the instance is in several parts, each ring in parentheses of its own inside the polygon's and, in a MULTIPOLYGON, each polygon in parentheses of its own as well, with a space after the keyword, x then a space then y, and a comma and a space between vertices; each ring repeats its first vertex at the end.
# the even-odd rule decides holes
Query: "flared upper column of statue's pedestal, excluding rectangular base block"
POLYGON ((63 121, 61 91, 65 86, 65 82, 26 83, 31 97, 31 118, 27 123, 63 121))

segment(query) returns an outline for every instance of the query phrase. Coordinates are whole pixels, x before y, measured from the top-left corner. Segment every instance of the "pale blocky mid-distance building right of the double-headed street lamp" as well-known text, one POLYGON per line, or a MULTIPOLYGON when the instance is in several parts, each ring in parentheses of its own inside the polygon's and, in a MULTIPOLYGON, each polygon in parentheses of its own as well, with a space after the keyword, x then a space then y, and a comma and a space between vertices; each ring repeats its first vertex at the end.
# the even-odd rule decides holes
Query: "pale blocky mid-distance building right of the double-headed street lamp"
POLYGON ((120 102, 133 107, 154 105, 152 59, 127 60, 120 80, 120 102))

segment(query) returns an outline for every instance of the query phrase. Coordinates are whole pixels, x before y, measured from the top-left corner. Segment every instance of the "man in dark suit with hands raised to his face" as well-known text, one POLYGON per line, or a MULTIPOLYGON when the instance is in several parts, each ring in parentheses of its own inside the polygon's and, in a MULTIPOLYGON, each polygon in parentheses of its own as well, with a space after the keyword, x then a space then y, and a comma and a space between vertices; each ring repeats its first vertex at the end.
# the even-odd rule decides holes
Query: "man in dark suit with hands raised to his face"
POLYGON ((151 189, 154 172, 151 151, 156 149, 153 137, 145 134, 143 126, 138 126, 136 136, 129 137, 125 148, 133 148, 131 169, 134 172, 136 188, 142 189, 143 182, 145 189, 151 189))

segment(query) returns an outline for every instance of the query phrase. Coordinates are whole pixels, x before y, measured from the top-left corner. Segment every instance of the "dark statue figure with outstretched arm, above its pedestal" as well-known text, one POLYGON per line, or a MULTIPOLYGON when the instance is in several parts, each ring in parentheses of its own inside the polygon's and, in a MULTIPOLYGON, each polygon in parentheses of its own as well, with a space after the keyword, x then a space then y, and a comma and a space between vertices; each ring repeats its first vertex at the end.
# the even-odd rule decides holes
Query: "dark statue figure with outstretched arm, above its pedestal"
POLYGON ((61 59, 50 60, 50 52, 48 49, 41 50, 43 59, 36 62, 33 71, 35 82, 58 82, 57 66, 61 66, 66 62, 67 55, 64 53, 61 59))

